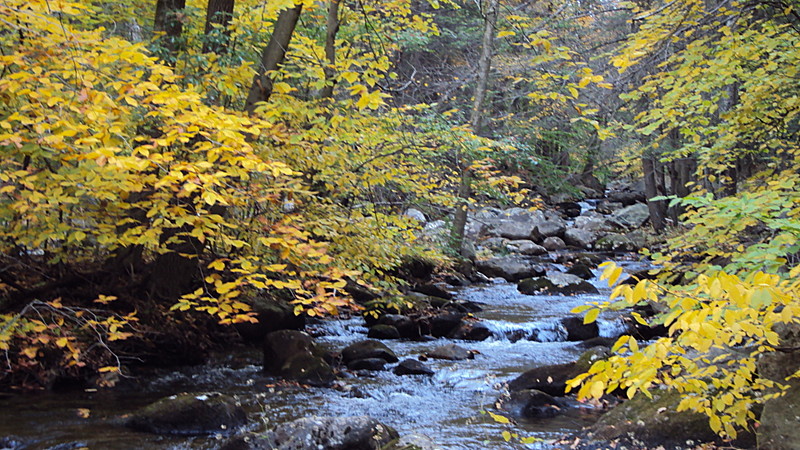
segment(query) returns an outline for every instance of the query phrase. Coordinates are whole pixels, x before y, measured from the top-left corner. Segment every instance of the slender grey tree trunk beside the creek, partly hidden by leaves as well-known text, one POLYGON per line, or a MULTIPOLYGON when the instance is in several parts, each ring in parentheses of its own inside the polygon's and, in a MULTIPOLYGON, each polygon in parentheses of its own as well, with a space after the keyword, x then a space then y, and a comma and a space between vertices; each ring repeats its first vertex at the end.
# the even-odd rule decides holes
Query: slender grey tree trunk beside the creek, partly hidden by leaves
MULTIPOLYGON (((470 125, 472 131, 478 134, 483 121, 483 102, 486 99, 486 90, 489 85, 489 70, 492 67, 492 53, 495 36, 495 25, 497 23, 497 4, 498 0, 488 0, 484 15, 483 43, 481 47, 481 58, 478 62, 478 85, 475 88, 475 101, 472 104, 470 114, 470 125)), ((470 162, 460 162, 461 184, 458 188, 458 207, 453 217, 453 229, 450 233, 452 249, 458 253, 463 253, 464 229, 467 225, 467 209, 469 206, 469 196, 471 192, 470 162)))

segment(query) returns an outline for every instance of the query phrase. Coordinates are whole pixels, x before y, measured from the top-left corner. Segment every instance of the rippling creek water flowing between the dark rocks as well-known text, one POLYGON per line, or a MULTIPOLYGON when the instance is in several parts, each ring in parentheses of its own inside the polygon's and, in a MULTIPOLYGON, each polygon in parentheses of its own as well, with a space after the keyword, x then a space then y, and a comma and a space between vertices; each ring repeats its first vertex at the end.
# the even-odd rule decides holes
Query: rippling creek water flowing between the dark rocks
MULTIPOLYGON (((578 305, 607 299, 604 283, 593 282, 601 289, 600 295, 528 296, 509 283, 463 288, 457 298, 483 307, 474 316, 494 336, 482 342, 457 342, 476 351, 475 359, 427 361, 436 371, 432 377, 383 371, 345 378, 338 390, 301 388, 262 374, 261 355, 253 351, 226 355, 203 366, 154 372, 138 380, 135 388, 0 397, 0 449, 3 445, 20 449, 216 448, 224 436, 165 437, 121 426, 126 414, 158 398, 210 391, 236 395, 255 431, 309 415, 369 415, 395 427, 401 436, 422 434, 444 449, 550 448, 548 441, 591 423, 598 412, 576 403, 578 407, 552 419, 517 420, 508 425, 481 411, 494 411, 504 384, 525 370, 580 356, 585 349, 565 341, 559 321, 578 305), (502 437, 506 430, 541 441, 506 443, 502 437)), ((603 336, 622 332, 614 317, 601 316, 599 324, 603 336)), ((367 332, 360 318, 326 320, 313 330, 318 342, 336 350, 365 339, 367 332)), ((452 341, 383 342, 402 360, 452 341)))

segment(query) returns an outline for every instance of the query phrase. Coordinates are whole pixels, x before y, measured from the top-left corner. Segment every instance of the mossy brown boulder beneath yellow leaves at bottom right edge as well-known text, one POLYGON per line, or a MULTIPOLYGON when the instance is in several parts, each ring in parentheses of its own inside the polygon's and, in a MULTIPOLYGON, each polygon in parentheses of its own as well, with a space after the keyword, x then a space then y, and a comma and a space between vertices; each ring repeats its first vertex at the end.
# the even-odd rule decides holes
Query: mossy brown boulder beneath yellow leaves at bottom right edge
MULTIPOLYGON (((681 394, 677 391, 651 390, 653 398, 637 395, 604 414, 591 427, 581 431, 577 438, 609 448, 695 448, 704 443, 723 444, 708 425, 708 417, 692 411, 677 412, 681 394)), ((571 441, 574 437, 567 438, 571 441)), ((753 435, 742 432, 734 442, 725 442, 727 448, 752 448, 753 435)), ((771 447, 769 447, 771 448, 771 447)), ((789 448, 789 447, 787 447, 789 448)), ((797 447, 791 447, 797 448, 797 447)))

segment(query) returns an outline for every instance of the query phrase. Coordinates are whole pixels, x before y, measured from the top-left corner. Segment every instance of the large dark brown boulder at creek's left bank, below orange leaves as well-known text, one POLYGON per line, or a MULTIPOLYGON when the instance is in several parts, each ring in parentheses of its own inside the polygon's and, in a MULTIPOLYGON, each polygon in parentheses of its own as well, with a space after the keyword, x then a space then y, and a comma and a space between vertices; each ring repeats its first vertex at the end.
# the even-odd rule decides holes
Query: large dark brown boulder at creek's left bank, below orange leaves
POLYGON ((336 378, 325 352, 296 330, 273 331, 264 338, 264 371, 312 386, 328 386, 336 378))

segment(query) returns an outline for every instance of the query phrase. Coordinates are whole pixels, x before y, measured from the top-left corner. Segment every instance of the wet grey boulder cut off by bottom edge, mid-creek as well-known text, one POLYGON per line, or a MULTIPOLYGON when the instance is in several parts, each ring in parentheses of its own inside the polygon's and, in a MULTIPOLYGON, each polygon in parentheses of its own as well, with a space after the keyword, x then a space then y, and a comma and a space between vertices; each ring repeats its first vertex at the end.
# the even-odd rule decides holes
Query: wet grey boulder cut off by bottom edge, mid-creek
POLYGON ((367 416, 306 417, 284 423, 251 448, 276 450, 378 450, 398 439, 394 428, 367 416))

